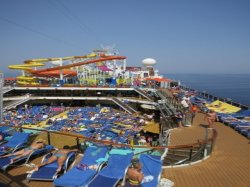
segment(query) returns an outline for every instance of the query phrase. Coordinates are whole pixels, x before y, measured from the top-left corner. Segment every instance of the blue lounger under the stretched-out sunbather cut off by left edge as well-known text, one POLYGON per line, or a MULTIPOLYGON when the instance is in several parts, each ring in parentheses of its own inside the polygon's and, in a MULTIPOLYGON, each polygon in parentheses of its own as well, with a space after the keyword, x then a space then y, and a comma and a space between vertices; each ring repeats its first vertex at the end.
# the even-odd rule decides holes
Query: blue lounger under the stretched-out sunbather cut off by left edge
POLYGON ((6 172, 6 170, 10 166, 17 166, 17 165, 19 165, 18 163, 21 163, 21 162, 24 162, 24 164, 27 164, 31 158, 37 157, 41 154, 48 153, 52 149, 54 149, 53 146, 46 145, 44 148, 36 149, 36 150, 32 151, 27 156, 16 159, 12 164, 10 164, 10 161, 11 161, 11 159, 15 158, 16 156, 9 156, 9 157, 0 158, 0 169, 3 170, 4 172, 6 172))

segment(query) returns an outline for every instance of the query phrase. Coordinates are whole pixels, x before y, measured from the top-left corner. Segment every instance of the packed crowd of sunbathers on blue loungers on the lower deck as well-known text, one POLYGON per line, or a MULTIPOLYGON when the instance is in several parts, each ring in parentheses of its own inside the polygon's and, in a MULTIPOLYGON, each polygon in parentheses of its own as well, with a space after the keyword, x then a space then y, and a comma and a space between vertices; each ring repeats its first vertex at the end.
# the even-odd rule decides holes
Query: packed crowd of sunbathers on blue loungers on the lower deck
POLYGON ((19 106, 17 110, 5 112, 4 124, 16 127, 28 125, 28 127, 33 128, 42 127, 53 131, 74 132, 89 138, 114 143, 156 145, 156 141, 151 141, 151 136, 155 135, 147 133, 145 136, 143 130, 146 122, 153 121, 154 117, 154 114, 132 115, 111 107, 25 104, 19 106))

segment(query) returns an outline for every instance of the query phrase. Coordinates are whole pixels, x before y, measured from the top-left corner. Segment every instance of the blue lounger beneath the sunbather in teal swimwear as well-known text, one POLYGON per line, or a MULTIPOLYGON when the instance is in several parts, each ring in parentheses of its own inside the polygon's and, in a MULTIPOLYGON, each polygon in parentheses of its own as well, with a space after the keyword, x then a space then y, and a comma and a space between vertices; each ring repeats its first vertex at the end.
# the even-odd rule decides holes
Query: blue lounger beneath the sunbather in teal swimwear
MULTIPOLYGON (((45 155, 42 159, 42 163, 46 162, 52 155, 53 153, 48 153, 47 155, 45 155)), ((75 157, 76 152, 68 153, 67 159, 65 160, 63 168, 60 172, 56 171, 58 168, 58 164, 57 161, 54 161, 50 164, 40 167, 38 171, 33 171, 32 173, 28 174, 27 180, 53 181, 59 175, 67 171, 69 165, 75 160, 75 157)))

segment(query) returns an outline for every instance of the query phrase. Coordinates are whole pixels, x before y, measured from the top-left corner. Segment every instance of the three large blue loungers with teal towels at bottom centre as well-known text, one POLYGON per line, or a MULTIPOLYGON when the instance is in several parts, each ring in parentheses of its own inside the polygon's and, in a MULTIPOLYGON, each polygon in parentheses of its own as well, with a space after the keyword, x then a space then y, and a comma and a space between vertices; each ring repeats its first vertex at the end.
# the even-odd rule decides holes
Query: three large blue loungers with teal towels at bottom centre
MULTIPOLYGON (((134 157, 132 150, 112 149, 106 147, 88 147, 79 165, 97 165, 97 169, 79 169, 74 166, 61 177, 54 180, 55 186, 60 187, 113 187, 119 182, 125 181, 126 172, 134 157)), ((160 157, 142 154, 139 157, 143 165, 142 171, 145 176, 153 176, 153 180, 143 183, 143 187, 157 186, 162 171, 160 157)))

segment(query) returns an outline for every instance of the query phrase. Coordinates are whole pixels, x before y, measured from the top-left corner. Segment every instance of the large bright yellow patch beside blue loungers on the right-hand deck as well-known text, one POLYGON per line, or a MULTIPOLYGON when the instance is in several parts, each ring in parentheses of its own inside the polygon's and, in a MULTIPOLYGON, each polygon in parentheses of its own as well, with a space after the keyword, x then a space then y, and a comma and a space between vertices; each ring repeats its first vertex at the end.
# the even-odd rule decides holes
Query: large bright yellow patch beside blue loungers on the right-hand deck
POLYGON ((241 110, 241 108, 230 105, 228 103, 216 100, 210 104, 206 105, 208 109, 214 110, 219 113, 234 113, 241 110))

